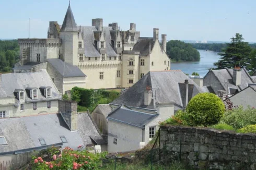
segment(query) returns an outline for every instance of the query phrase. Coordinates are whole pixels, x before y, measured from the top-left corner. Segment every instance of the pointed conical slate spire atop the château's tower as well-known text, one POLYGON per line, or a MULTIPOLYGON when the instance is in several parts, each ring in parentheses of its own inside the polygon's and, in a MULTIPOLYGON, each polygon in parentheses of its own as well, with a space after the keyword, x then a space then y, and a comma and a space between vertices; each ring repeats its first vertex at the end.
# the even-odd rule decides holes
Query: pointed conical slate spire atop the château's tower
POLYGON ((76 21, 72 13, 70 2, 67 8, 67 13, 61 26, 61 32, 77 32, 76 21))

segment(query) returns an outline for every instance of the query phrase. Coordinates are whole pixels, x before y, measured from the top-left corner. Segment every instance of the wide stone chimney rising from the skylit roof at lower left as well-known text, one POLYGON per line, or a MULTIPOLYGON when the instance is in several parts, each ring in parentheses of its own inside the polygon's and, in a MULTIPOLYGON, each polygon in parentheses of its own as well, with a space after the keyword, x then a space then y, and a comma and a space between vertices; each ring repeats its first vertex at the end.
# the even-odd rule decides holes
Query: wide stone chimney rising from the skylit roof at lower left
POLYGON ((71 131, 77 130, 77 102, 59 100, 59 113, 71 131))

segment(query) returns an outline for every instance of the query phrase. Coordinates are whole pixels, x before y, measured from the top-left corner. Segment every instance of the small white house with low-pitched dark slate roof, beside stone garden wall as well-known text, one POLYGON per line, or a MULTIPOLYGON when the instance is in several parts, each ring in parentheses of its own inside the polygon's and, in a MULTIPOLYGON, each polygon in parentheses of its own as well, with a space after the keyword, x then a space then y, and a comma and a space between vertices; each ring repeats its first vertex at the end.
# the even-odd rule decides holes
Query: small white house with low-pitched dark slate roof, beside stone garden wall
POLYGON ((173 103, 156 105, 152 113, 132 110, 124 105, 111 112, 108 119, 108 152, 135 151, 146 145, 159 128, 159 122, 174 115, 173 103))

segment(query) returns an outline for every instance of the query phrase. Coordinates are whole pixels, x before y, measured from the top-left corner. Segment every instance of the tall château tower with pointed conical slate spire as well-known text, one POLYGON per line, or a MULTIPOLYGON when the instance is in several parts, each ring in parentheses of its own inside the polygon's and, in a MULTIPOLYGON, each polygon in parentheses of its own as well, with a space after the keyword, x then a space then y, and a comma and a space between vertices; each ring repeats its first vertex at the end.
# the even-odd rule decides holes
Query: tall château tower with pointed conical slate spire
POLYGON ((62 59, 64 62, 77 65, 78 64, 78 30, 76 21, 71 9, 68 5, 66 16, 64 18, 60 38, 62 39, 62 59))

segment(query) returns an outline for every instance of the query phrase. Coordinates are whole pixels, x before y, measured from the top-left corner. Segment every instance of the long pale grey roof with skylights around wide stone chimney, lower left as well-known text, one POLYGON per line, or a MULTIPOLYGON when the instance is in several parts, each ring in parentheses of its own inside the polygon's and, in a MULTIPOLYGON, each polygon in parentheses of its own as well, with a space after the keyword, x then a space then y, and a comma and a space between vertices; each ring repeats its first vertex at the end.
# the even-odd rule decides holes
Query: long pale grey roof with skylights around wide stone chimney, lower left
POLYGON ((77 126, 78 130, 71 132, 61 114, 0 119, 0 136, 8 143, 0 146, 0 153, 41 147, 39 138, 49 145, 61 143, 60 136, 65 136, 67 143, 63 147, 73 149, 80 144, 92 144, 90 137, 102 140, 87 113, 78 114, 77 126))

